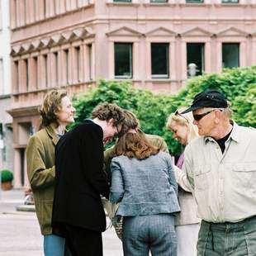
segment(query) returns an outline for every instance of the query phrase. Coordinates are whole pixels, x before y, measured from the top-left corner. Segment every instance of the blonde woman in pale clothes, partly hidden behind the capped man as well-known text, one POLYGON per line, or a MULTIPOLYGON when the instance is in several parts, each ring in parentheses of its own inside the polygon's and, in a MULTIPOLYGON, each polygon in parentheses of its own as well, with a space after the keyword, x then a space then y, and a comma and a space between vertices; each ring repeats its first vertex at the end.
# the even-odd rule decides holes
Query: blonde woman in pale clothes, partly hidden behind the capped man
MULTIPOLYGON (((184 109, 178 109, 168 116, 167 127, 173 131, 173 138, 178 140, 182 145, 189 144, 198 136, 197 126, 193 125, 192 112, 180 114, 184 109)), ((181 154, 175 168, 175 176, 183 176, 182 170, 184 154, 181 154)), ((176 232, 178 239, 178 256, 196 256, 197 255, 197 236, 200 228, 200 220, 197 218, 197 204, 190 192, 189 183, 187 186, 179 184, 178 200, 181 206, 181 213, 176 219, 176 232)))

